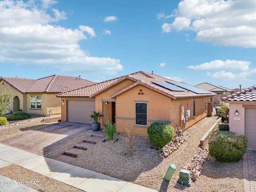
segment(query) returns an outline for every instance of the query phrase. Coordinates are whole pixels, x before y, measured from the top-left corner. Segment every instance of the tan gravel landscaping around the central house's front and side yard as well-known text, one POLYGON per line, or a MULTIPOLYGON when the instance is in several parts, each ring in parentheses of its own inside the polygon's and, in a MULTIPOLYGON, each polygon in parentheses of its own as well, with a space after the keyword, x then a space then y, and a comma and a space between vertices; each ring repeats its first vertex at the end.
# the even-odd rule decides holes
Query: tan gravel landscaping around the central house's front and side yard
MULTIPOLYGON (((26 120, 27 122, 24 124, 0 126, 0 141, 16 136, 21 131, 43 126, 38 118, 32 116, 30 121, 26 120)), ((167 158, 160 155, 161 149, 155 148, 148 137, 124 138, 121 134, 116 133, 114 140, 99 142, 70 164, 133 182, 159 192, 242 192, 244 191, 242 160, 237 163, 219 163, 209 157, 204 162, 201 175, 195 182, 192 182, 190 187, 176 182, 179 178, 179 171, 188 166, 193 157, 198 154, 200 138, 216 120, 216 116, 204 118, 186 130, 186 134, 188 134, 186 141, 167 158), (129 144, 133 144, 130 145, 132 148, 127 147, 129 144), (176 171, 171 180, 166 181, 164 175, 170 164, 176 166, 176 171)), ((84 137, 88 137, 88 135, 84 134, 84 137)), ((80 141, 81 137, 72 141, 72 144, 80 141)), ((72 144, 64 146, 62 150, 72 147, 72 144)), ((55 157, 60 153, 61 151, 58 150, 53 152, 51 156, 55 157)), ((20 175, 22 174, 20 172, 20 175)))

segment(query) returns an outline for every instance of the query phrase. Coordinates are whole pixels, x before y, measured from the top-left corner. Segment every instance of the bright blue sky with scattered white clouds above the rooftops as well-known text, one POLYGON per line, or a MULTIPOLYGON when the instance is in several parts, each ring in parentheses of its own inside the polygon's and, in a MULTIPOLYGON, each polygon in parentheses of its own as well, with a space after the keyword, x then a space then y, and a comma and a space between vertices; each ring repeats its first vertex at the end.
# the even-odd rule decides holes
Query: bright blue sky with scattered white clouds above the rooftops
POLYGON ((0 76, 256 83, 255 0, 0 0, 0 76))

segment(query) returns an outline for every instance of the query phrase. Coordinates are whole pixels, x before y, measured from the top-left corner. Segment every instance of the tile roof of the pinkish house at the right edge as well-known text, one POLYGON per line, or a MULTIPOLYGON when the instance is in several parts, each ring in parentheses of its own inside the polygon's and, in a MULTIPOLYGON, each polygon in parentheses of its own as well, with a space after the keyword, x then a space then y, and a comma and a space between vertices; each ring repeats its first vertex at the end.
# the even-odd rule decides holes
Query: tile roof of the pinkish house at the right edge
POLYGON ((256 101, 256 86, 246 88, 222 98, 223 101, 256 101))

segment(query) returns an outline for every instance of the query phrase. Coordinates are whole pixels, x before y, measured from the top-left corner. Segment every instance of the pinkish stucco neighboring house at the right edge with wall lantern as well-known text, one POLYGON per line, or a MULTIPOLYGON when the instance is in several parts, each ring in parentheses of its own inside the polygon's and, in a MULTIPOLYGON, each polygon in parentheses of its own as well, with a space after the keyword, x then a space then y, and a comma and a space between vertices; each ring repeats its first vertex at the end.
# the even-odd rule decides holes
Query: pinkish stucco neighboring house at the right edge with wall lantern
POLYGON ((247 136, 247 147, 256 150, 256 86, 223 97, 229 103, 229 130, 247 136))

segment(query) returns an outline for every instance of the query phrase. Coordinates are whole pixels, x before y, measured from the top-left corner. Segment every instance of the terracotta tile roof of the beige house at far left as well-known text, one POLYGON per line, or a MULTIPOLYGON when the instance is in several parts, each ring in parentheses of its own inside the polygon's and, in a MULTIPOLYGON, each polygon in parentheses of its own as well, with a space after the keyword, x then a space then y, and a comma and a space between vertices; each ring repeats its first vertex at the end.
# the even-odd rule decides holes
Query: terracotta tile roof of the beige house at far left
POLYGON ((40 79, 17 77, 0 77, 0 79, 21 93, 61 93, 95 84, 82 78, 61 75, 52 75, 40 79))

